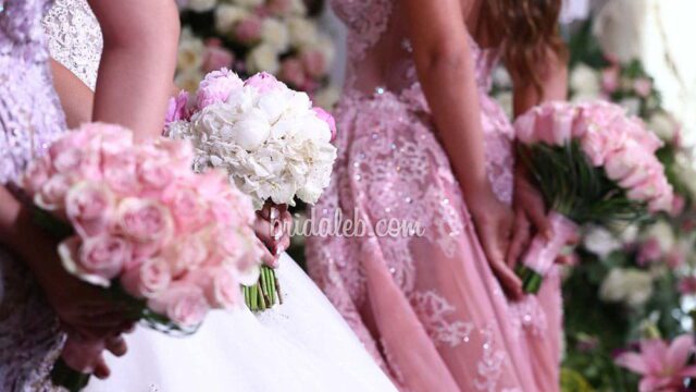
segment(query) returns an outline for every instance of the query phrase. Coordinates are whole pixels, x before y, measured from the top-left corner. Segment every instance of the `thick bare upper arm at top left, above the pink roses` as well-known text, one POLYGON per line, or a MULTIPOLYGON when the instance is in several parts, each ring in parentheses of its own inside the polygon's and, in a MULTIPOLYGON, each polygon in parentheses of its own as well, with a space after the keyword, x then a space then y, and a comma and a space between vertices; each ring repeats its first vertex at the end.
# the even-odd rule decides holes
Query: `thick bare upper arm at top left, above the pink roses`
POLYGON ((179 35, 174 0, 89 0, 104 37, 94 120, 159 137, 179 35))

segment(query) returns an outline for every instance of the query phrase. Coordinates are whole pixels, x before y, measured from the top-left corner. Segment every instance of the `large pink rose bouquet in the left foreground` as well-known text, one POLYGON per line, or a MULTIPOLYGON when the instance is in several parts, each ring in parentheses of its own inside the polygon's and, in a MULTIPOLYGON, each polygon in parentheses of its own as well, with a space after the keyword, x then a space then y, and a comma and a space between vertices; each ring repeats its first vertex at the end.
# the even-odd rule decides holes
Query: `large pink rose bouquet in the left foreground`
MULTIPOLYGON (((23 177, 63 267, 173 334, 241 304, 239 284, 260 270, 251 200, 219 171, 196 174, 192 160, 185 142, 135 144, 130 131, 96 123, 58 139, 23 177)), ((52 377, 74 391, 89 376, 59 362, 52 377)))

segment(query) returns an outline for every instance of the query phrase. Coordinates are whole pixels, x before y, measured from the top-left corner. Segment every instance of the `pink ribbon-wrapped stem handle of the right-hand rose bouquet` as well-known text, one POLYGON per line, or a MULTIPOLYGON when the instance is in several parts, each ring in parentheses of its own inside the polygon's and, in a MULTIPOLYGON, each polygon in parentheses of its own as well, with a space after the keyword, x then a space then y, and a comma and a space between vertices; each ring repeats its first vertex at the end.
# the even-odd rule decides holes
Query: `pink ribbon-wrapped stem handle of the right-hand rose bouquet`
POLYGON ((522 262, 515 269, 522 279, 522 290, 527 294, 536 294, 542 289, 544 277, 554 266, 561 250, 577 233, 577 224, 558 212, 549 212, 548 220, 551 223, 554 236, 546 240, 537 234, 530 245, 530 249, 522 258, 522 262))

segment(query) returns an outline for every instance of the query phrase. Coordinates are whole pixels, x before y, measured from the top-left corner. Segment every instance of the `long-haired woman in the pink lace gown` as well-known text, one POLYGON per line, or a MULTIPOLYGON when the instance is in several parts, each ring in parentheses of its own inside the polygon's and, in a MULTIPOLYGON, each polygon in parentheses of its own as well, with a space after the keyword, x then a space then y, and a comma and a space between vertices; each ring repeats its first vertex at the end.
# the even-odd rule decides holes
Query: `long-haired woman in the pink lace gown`
POLYGON ((531 226, 552 233, 488 90, 502 60, 515 113, 566 98, 561 1, 333 3, 350 60, 314 216, 396 218, 424 235, 313 237, 310 274, 403 390, 558 390, 558 275, 524 296, 513 272, 531 226))

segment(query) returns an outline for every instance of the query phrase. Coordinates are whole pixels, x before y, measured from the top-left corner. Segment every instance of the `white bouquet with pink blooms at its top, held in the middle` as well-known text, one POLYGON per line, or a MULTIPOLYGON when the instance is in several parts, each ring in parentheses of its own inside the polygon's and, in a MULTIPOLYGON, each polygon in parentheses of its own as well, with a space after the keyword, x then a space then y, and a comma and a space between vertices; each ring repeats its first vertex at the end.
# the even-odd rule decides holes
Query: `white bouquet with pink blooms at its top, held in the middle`
MULTIPOLYGON (((296 198, 316 203, 336 160, 334 119, 265 73, 243 82, 225 69, 211 72, 195 96, 172 100, 165 133, 191 140, 195 170, 225 170, 257 210, 266 203, 294 206, 296 198)), ((249 308, 282 301, 278 289, 273 269, 263 267, 258 284, 245 289, 249 308)))

